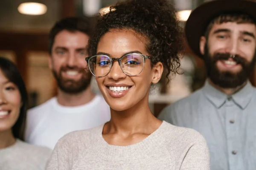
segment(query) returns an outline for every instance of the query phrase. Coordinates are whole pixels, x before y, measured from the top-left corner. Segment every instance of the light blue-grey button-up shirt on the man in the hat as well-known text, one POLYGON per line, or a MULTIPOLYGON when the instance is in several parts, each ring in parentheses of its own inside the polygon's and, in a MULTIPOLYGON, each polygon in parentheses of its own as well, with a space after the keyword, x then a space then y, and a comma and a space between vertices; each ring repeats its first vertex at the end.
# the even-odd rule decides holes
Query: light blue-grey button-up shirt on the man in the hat
POLYGON ((211 170, 256 170, 256 88, 250 82, 232 96, 206 82, 158 118, 201 133, 210 150, 211 170))

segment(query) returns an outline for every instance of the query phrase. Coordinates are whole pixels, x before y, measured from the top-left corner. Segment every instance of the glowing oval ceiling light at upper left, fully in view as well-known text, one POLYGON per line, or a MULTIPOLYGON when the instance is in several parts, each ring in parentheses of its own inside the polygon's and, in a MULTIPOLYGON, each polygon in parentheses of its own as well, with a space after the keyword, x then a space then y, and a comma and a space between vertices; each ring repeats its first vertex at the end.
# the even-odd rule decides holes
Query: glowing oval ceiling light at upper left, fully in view
POLYGON ((42 15, 47 11, 47 6, 42 3, 21 3, 18 11, 26 15, 42 15))

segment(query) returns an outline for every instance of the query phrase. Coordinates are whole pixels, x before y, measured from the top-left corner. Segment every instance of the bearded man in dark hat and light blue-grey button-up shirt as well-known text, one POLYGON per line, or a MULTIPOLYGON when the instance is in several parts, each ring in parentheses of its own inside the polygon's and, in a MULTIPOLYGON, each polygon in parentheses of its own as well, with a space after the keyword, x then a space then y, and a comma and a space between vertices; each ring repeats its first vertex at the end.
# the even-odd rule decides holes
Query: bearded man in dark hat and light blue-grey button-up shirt
POLYGON ((214 0, 187 20, 187 42, 207 68, 200 90, 169 105, 159 119, 200 132, 211 170, 256 170, 256 2, 214 0))

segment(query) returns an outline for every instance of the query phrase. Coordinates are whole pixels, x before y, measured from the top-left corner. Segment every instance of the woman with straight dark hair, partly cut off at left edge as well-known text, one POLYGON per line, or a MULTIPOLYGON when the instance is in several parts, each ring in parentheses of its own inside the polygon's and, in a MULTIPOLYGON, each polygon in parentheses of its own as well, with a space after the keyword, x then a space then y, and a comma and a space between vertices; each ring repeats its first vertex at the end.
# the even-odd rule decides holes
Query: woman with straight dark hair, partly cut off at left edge
POLYGON ((23 142, 27 94, 16 66, 0 57, 0 170, 44 170, 51 150, 23 142))

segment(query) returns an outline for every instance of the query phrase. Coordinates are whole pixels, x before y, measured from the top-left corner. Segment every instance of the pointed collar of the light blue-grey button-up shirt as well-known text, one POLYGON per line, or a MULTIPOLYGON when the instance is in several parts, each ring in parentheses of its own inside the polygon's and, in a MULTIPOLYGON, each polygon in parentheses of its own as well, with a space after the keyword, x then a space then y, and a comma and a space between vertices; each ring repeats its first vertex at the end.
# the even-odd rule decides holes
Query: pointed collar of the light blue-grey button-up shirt
POLYGON ((253 86, 249 81, 243 88, 241 88, 241 90, 239 90, 231 96, 224 94, 217 88, 210 85, 208 80, 205 82, 205 85, 202 88, 202 90, 207 99, 209 99, 209 101, 212 102, 212 104, 215 105, 216 108, 220 108, 222 105, 224 105, 224 103, 229 97, 232 97, 236 105, 239 105, 240 108, 244 109, 246 108, 246 106, 248 105, 253 96, 253 86))

